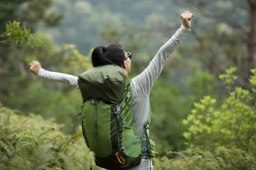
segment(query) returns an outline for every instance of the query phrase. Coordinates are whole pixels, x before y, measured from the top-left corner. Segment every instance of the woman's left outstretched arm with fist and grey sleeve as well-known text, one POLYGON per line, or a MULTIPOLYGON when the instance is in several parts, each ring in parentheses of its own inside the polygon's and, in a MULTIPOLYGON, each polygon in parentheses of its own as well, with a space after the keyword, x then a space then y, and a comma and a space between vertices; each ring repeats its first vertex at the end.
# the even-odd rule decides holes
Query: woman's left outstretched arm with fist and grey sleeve
POLYGON ((33 61, 30 65, 30 71, 38 77, 43 77, 44 79, 53 80, 55 82, 62 82, 71 85, 73 88, 78 88, 77 78, 75 76, 63 73, 57 73, 52 71, 46 71, 41 68, 41 65, 37 61, 33 61))

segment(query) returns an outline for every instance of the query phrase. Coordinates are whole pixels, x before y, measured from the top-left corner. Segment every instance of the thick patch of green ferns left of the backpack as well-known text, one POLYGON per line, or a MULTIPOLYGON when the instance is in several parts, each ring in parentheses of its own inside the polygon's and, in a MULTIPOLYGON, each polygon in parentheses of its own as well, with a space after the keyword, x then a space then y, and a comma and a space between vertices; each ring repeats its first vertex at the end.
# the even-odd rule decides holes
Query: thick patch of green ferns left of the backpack
MULTIPOLYGON (((91 153, 82 133, 64 136, 52 121, 35 125, 17 111, 3 108, 0 120, 0 169, 8 170, 84 170, 90 166, 91 153), (20 118, 23 121, 18 121, 20 118), (81 140, 79 140, 81 139, 81 140), (79 152, 77 152, 79 150, 79 152)), ((41 116, 30 115, 42 122, 41 116)), ((96 167, 95 167, 96 168, 96 167)))

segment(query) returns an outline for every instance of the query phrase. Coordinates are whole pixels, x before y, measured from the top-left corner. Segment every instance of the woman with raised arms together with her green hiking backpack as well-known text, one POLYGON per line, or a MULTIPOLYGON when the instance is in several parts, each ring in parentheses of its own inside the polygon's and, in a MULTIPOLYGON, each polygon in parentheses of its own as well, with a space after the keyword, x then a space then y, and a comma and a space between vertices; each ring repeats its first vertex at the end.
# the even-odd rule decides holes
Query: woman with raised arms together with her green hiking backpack
POLYGON ((96 165, 104 170, 154 167, 155 143, 148 136, 149 94, 167 59, 190 32, 193 14, 186 11, 180 17, 182 26, 133 79, 128 77, 131 53, 119 44, 97 46, 92 53, 93 68, 79 77, 46 71, 37 61, 29 64, 30 71, 39 77, 79 88, 83 104, 75 116, 81 115, 87 147, 93 151, 96 165))

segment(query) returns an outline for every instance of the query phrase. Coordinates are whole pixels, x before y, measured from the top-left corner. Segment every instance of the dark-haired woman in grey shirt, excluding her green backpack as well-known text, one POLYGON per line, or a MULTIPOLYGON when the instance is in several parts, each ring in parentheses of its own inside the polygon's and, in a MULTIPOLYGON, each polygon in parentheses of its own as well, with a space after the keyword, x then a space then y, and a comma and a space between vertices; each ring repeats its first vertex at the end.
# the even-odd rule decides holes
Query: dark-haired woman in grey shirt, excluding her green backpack
MULTIPOLYGON (((149 110, 149 94, 154 82, 159 77, 163 67, 172 54, 172 52, 180 44, 181 40, 189 34, 191 20, 194 15, 189 11, 180 15, 182 20, 181 27, 157 52, 156 56, 149 63, 148 67, 137 77, 131 79, 132 90, 132 107, 134 113, 134 124, 137 136, 140 137, 144 131, 144 122, 147 120, 149 110)), ((127 54, 123 47, 119 44, 109 44, 107 46, 97 46, 92 53, 93 67, 99 65, 118 65, 123 68, 125 74, 131 71, 131 54, 127 54)), ((79 89, 78 77, 62 74, 57 72, 46 71, 41 68, 37 61, 33 61, 30 65, 30 71, 38 77, 50 79, 55 82, 62 82, 79 89)), ((153 168, 149 157, 143 157, 141 164, 137 167, 127 168, 126 170, 149 170, 153 168)))

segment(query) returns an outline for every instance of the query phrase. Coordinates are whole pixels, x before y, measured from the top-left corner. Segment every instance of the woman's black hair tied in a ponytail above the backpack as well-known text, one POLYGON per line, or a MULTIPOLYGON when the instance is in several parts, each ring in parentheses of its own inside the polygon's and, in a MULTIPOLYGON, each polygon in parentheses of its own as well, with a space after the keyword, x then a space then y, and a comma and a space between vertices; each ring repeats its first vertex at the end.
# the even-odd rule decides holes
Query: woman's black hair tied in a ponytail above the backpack
POLYGON ((120 44, 108 44, 107 46, 97 46, 92 53, 93 67, 99 65, 122 66, 125 59, 125 51, 120 44))

